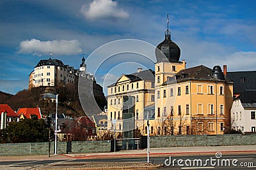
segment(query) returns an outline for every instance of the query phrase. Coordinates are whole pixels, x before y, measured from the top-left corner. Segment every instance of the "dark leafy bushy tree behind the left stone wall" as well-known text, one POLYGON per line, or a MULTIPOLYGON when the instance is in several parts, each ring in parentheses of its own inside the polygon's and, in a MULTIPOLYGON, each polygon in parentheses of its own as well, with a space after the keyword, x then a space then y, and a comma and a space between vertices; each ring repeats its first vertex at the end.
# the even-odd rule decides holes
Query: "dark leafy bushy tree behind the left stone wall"
MULTIPOLYGON (((31 119, 24 118, 19 122, 10 122, 0 134, 3 137, 0 139, 1 143, 38 143, 49 140, 47 124, 36 115, 31 115, 31 119)), ((53 139, 54 132, 51 129, 51 140, 53 139)))

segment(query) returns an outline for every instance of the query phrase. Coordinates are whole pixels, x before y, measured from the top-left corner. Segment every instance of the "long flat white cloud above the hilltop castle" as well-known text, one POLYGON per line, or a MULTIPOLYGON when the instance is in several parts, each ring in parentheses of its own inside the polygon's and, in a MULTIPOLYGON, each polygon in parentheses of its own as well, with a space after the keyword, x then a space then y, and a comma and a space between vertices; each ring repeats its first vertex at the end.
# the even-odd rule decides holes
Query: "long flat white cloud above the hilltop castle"
POLYGON ((20 42, 18 53, 33 53, 33 55, 42 55, 49 52, 59 55, 70 55, 81 53, 81 43, 76 39, 67 41, 61 39, 53 41, 40 41, 39 39, 30 39, 20 42))

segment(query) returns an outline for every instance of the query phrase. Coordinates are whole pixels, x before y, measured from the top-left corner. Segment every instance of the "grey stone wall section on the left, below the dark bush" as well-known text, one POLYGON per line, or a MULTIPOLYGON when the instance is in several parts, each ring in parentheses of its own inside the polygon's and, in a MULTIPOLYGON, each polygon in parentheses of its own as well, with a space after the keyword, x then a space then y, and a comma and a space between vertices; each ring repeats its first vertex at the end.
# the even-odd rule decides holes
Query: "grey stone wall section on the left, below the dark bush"
MULTIPOLYGON (((0 156, 5 155, 47 155, 48 143, 6 143, 0 144, 0 156)), ((111 141, 58 142, 57 153, 102 153, 111 151, 111 141)), ((51 155, 54 143, 51 143, 51 155)))

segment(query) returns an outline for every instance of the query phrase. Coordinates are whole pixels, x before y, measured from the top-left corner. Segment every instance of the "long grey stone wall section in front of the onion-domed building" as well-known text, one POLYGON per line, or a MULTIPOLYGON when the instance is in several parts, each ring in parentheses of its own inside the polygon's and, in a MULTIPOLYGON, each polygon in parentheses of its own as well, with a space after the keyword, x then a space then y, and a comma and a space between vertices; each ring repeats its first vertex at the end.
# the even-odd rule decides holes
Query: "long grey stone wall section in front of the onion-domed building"
POLYGON ((256 145, 256 134, 150 136, 150 147, 256 145))

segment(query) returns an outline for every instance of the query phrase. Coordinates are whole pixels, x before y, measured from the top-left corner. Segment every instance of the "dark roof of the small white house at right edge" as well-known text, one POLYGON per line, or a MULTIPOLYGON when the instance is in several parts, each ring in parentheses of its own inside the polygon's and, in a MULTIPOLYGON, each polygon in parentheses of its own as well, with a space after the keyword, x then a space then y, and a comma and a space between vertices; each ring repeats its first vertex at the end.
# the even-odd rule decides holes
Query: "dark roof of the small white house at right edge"
POLYGON ((240 99, 243 108, 256 108, 256 90, 246 90, 237 99, 240 99))

